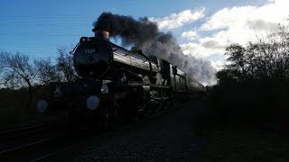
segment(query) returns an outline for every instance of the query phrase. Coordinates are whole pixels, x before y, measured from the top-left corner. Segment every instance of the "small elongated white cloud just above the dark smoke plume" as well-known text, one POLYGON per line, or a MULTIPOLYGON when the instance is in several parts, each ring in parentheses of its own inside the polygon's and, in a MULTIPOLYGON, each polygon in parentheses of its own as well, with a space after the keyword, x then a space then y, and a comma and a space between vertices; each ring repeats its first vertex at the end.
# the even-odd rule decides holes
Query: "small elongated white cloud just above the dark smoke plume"
POLYGON ((158 24, 159 29, 175 29, 184 24, 192 23, 204 17, 204 8, 196 11, 185 10, 178 14, 171 14, 163 18, 149 18, 150 21, 158 24))

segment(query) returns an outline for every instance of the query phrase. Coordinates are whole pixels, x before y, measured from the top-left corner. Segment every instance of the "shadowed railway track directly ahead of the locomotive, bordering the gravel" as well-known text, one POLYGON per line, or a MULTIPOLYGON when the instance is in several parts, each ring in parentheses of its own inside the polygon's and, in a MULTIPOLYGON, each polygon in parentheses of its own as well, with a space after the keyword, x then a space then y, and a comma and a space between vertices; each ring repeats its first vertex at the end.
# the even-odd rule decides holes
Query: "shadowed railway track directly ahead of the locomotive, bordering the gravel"
POLYGON ((71 148, 75 143, 95 137, 96 134, 96 131, 85 129, 74 132, 74 134, 66 130, 58 131, 46 138, 1 150, 0 161, 43 160, 71 148))

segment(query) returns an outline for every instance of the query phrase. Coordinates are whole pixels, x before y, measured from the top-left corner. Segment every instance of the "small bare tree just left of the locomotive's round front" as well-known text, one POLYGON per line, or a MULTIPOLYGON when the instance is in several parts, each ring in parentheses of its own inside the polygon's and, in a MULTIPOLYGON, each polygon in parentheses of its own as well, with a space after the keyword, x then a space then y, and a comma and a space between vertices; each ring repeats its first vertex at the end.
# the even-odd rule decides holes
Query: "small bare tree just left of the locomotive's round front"
POLYGON ((57 69, 61 72, 62 81, 72 82, 77 78, 77 73, 73 67, 73 59, 70 49, 61 47, 57 49, 57 69))

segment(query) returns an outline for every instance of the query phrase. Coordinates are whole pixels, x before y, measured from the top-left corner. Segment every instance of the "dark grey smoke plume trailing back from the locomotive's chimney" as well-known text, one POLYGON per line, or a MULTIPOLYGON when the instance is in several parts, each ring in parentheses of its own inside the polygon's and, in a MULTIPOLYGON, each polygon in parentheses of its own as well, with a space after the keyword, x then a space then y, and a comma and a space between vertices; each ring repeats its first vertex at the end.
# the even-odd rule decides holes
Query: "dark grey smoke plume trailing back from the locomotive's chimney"
POLYGON ((96 30, 109 31, 111 37, 120 38, 123 45, 137 46, 145 55, 171 62, 205 85, 214 83, 216 69, 210 61, 184 55, 172 33, 159 31, 157 24, 146 17, 135 20, 131 16, 102 13, 93 25, 96 30))

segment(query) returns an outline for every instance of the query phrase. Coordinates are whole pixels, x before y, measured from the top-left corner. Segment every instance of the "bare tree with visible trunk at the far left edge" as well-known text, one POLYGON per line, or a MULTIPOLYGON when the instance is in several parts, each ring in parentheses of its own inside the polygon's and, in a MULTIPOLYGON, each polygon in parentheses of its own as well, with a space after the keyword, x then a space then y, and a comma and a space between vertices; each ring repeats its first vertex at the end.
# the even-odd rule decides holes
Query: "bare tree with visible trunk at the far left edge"
POLYGON ((15 54, 1 52, 0 65, 2 85, 10 88, 28 86, 29 101, 26 106, 28 110, 33 97, 33 78, 36 76, 35 67, 29 61, 29 57, 19 52, 15 54))

